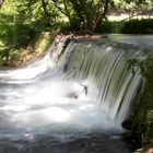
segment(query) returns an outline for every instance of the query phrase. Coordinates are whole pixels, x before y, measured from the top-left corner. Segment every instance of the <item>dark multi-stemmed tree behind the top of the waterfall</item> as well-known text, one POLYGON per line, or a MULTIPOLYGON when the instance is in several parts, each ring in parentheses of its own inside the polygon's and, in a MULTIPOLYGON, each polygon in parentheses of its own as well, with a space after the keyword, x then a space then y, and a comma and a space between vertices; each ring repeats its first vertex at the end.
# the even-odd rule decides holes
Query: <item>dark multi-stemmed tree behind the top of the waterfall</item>
POLYGON ((94 31, 106 19, 110 0, 52 0, 52 2, 68 17, 71 27, 94 31))

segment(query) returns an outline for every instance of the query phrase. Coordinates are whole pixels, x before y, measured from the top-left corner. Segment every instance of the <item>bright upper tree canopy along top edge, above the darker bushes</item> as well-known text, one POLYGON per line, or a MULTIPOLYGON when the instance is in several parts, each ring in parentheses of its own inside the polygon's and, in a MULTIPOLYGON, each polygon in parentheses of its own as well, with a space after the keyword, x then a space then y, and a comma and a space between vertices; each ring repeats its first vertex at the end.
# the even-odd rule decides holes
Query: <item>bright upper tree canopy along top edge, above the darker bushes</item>
POLYGON ((94 31, 111 10, 151 10, 153 0, 0 0, 0 8, 1 13, 13 14, 17 22, 39 20, 51 25, 67 17, 72 28, 94 31))

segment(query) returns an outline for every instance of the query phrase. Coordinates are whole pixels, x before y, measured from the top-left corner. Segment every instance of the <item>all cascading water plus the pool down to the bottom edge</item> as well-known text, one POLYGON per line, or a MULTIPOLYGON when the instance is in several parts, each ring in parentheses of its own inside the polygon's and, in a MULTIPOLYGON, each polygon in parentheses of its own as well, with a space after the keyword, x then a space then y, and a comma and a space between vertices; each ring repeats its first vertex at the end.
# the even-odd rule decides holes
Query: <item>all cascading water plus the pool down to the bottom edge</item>
MULTIPOLYGON (((45 142, 37 144, 39 150, 45 145, 42 153, 51 149, 56 149, 52 153, 73 153, 62 144, 121 130, 141 82, 139 71, 132 74, 126 62, 140 50, 129 48, 101 40, 71 40, 66 50, 51 46, 51 51, 25 68, 0 71, 0 153, 12 153, 12 148, 15 153, 36 153, 33 148, 42 139, 45 142)), ((118 146, 109 151, 116 138, 97 138, 98 145, 107 140, 108 152, 118 152, 118 146)), ((98 153, 92 149, 84 152, 98 153)))

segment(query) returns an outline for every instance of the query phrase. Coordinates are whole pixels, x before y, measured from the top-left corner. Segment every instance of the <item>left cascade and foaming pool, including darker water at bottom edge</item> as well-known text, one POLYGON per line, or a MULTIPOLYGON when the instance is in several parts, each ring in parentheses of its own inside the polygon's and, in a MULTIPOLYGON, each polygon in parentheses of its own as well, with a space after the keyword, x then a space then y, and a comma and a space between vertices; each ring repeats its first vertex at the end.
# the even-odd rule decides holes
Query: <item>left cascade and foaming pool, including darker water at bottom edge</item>
MULTIPOLYGON (((91 153, 102 152, 94 149, 101 148, 101 143, 108 143, 108 152, 117 153, 118 145, 129 148, 121 137, 114 137, 123 130, 102 110, 93 80, 68 80, 68 73, 61 72, 54 56, 48 52, 25 68, 0 71, 0 153, 38 153, 37 148, 40 153, 49 153, 52 144, 55 153, 73 153, 72 146, 78 153, 84 143, 92 146, 91 153), (78 146, 74 140, 83 144, 78 146)), ((85 145, 84 152, 90 151, 85 145)))

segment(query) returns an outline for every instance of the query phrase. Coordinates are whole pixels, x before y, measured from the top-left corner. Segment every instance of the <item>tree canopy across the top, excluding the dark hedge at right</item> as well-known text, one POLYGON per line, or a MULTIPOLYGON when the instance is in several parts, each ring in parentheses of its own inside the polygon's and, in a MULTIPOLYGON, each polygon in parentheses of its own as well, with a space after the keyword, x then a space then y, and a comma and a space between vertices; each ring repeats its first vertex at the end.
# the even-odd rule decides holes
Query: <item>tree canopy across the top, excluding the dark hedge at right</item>
POLYGON ((70 31, 102 32, 103 23, 111 11, 139 8, 148 11, 153 8, 152 1, 0 0, 0 45, 26 46, 38 33, 58 28, 64 22, 70 31))

